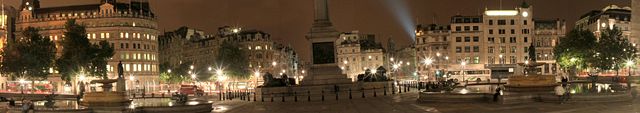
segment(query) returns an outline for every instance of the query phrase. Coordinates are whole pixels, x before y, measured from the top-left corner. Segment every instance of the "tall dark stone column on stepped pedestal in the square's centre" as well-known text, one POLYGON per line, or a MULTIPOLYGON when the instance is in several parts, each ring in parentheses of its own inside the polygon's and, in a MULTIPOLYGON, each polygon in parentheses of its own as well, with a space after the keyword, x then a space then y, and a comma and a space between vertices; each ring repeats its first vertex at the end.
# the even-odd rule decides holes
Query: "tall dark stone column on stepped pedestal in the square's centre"
POLYGON ((340 33, 329 20, 327 0, 314 0, 315 19, 307 40, 311 41, 312 65, 302 85, 327 85, 351 83, 336 64, 335 40, 340 33))

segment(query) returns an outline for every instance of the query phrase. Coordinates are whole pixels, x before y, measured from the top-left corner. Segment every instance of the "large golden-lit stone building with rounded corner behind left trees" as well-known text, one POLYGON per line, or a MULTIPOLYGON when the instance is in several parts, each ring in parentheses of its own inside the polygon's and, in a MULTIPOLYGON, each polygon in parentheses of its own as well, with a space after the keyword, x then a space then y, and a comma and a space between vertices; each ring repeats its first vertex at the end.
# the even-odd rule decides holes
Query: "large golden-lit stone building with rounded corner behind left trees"
MULTIPOLYGON (((22 0, 15 34, 27 27, 38 28, 40 34, 56 42, 58 51, 61 51, 59 42, 65 37, 64 25, 71 19, 86 26, 87 38, 91 43, 106 40, 114 47, 115 55, 107 66, 110 78, 116 77, 117 64, 122 61, 128 89, 158 89, 156 37, 160 32, 157 17, 148 1, 101 0, 96 4, 40 7, 40 0, 22 0)), ((54 74, 48 81, 60 93, 72 93, 73 88, 63 86, 74 86, 79 82, 79 79, 74 79, 73 84, 63 85, 57 71, 49 71, 54 74)))

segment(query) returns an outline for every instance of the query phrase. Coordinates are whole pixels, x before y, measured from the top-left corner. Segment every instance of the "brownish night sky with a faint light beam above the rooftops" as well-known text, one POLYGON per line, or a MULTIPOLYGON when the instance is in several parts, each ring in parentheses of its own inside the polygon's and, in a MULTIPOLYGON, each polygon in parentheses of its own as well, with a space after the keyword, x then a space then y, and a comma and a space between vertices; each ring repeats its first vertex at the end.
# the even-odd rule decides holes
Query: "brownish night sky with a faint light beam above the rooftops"
MULTIPOLYGON (((99 0, 41 0, 42 7, 99 3, 99 0)), ((263 30, 283 44, 291 44, 309 59, 309 42, 304 35, 313 22, 313 0, 149 0, 159 16, 161 31, 172 31, 189 26, 215 33, 220 26, 231 25, 263 30)), ((330 17, 338 31, 359 30, 378 35, 386 42, 393 37, 399 45, 406 46, 411 39, 405 32, 389 1, 406 2, 405 21, 418 24, 448 24, 451 16, 480 15, 485 7, 499 9, 499 0, 329 0, 330 17), (435 20, 434 20, 435 17, 435 20)), ((629 6, 630 0, 526 0, 533 6, 534 18, 565 19, 573 23, 582 14, 602 9, 609 4, 629 6)), ((5 0, 18 6, 20 0, 5 0)), ((514 9, 522 0, 503 0, 502 9, 514 9)), ((16 7, 18 8, 18 7, 16 7)), ((386 46, 385 46, 386 47, 386 46)))

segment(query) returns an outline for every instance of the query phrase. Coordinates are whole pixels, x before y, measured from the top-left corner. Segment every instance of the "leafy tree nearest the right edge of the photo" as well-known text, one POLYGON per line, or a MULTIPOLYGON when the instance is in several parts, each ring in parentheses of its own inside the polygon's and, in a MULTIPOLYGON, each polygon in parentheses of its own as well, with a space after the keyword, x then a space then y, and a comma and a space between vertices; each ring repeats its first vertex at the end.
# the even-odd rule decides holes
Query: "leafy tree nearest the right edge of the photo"
POLYGON ((618 27, 603 30, 596 45, 593 66, 601 70, 618 70, 626 60, 636 58, 637 49, 622 36, 618 27))

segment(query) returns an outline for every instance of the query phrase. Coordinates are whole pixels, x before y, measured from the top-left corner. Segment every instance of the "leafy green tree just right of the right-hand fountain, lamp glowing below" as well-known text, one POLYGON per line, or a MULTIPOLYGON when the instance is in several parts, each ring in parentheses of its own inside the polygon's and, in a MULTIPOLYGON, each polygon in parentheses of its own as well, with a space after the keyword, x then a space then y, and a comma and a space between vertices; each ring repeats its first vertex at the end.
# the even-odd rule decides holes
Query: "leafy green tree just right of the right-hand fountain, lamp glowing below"
MULTIPOLYGON (((588 67, 595 55, 596 37, 588 30, 573 29, 566 37, 560 38, 554 48, 555 59, 560 67, 572 70, 572 76, 578 68, 588 67)), ((530 56, 536 57, 536 56, 530 56)))

